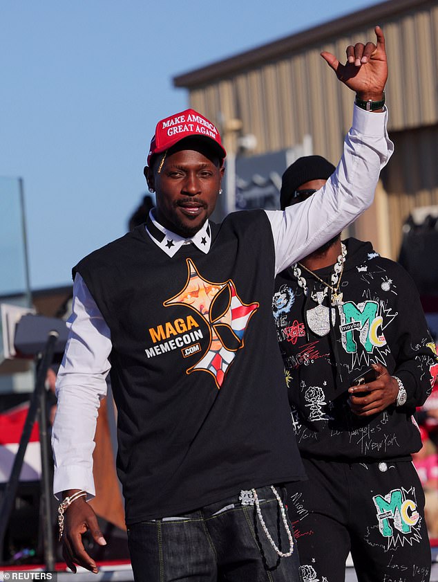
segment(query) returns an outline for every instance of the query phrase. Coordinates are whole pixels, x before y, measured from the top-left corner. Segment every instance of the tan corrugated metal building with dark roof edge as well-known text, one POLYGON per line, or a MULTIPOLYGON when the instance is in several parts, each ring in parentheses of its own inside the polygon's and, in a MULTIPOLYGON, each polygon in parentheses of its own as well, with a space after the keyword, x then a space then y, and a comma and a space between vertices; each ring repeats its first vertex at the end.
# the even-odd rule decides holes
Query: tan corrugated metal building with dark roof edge
POLYGON ((396 153, 376 201, 350 233, 397 258, 401 226, 414 208, 438 204, 438 1, 389 0, 174 78, 191 107, 225 132, 226 146, 255 134, 254 154, 294 147, 312 136, 313 152, 336 163, 350 127, 353 93, 321 58, 340 60, 348 44, 375 41, 383 28, 390 75, 386 99, 396 153), (227 121, 242 121, 240 134, 227 121))

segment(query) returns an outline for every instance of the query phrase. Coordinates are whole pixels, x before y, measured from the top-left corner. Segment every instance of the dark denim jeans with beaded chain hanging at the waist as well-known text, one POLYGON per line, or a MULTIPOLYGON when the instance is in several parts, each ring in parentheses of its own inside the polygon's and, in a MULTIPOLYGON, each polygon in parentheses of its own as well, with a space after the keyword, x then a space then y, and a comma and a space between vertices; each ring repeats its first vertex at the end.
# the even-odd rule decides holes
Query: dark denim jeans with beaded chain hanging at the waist
MULTIPOLYGON (((284 499, 284 490, 277 491, 284 499)), ((128 526, 135 581, 299 582, 297 552, 278 556, 256 506, 243 505, 238 494, 181 516, 128 526)), ((289 552, 272 489, 261 487, 257 494, 269 534, 281 552, 289 552)))

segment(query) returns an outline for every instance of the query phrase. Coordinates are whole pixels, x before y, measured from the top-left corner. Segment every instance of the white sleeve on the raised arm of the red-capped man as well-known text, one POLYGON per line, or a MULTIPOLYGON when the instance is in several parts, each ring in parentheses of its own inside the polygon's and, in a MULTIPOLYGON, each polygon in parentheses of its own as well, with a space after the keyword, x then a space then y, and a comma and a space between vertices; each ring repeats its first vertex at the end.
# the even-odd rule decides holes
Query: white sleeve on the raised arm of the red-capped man
POLYGON ((316 251, 371 205, 380 171, 394 151, 387 122, 386 109, 370 113, 354 105, 341 161, 323 188, 284 212, 266 210, 274 236, 276 273, 316 251))

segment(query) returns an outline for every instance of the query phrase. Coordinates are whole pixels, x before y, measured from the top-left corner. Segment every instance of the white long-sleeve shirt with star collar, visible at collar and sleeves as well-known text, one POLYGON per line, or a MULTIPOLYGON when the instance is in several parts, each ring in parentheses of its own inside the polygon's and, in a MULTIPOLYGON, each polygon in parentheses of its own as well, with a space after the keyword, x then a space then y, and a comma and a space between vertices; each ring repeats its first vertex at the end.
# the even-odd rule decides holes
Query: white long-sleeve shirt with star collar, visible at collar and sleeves
MULTIPOLYGON (((283 211, 266 211, 272 227, 276 273, 312 253, 339 234, 372 203, 381 168, 392 155, 386 131, 388 114, 369 113, 354 106, 352 128, 344 142, 336 172, 309 199, 283 211)), ((182 239, 153 221, 151 239, 169 256, 182 244, 209 252, 208 221, 191 239, 182 239), (166 246, 166 240, 173 244, 166 246), (207 244, 203 241, 207 241, 207 244)), ((99 400, 106 394, 110 370, 111 333, 82 277, 73 286, 70 335, 57 377, 58 407, 53 425, 54 491, 83 489, 95 495, 93 449, 99 400)))

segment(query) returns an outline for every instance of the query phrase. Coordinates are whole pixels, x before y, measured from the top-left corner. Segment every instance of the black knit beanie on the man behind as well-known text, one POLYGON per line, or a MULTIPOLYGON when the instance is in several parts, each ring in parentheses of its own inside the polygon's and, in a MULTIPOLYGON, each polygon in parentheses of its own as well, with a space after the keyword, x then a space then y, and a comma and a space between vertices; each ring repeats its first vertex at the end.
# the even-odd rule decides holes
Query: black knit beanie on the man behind
POLYGON ((303 156, 289 165, 281 176, 280 208, 285 210, 292 201, 292 196, 301 186, 311 180, 327 180, 336 167, 323 156, 303 156))

